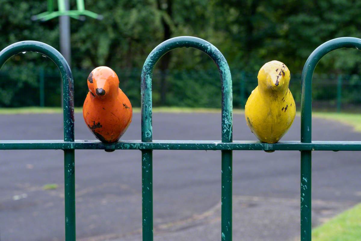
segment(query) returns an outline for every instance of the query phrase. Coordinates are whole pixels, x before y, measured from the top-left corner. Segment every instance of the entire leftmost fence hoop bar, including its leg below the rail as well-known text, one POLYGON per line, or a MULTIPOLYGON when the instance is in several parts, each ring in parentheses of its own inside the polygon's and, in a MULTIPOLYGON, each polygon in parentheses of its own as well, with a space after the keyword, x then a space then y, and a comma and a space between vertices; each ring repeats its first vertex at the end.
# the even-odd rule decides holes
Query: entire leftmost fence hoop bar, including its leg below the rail
MULTIPOLYGON (((0 68, 13 55, 38 52, 51 59, 60 70, 63 83, 64 141, 74 141, 74 81, 64 57, 48 44, 37 41, 14 43, 0 52, 0 68)), ((65 240, 75 241, 75 163, 74 150, 64 150, 65 240)))

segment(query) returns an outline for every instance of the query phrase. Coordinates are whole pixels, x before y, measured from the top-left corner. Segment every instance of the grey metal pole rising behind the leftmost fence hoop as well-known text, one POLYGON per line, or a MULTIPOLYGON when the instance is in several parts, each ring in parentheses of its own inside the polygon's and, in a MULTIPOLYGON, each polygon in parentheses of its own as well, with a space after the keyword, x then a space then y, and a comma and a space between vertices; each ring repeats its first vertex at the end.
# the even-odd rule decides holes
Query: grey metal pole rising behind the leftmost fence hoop
MULTIPOLYGON (((59 10, 69 10, 69 0, 58 1, 59 10), (62 2, 63 4, 60 4, 62 2)), ((70 51, 70 17, 60 16, 59 17, 59 39, 60 39, 60 53, 64 56, 71 68, 71 51, 70 51)), ((63 96, 63 87, 61 82, 61 96, 63 96)), ((61 106, 63 106, 63 100, 61 99, 61 106)))

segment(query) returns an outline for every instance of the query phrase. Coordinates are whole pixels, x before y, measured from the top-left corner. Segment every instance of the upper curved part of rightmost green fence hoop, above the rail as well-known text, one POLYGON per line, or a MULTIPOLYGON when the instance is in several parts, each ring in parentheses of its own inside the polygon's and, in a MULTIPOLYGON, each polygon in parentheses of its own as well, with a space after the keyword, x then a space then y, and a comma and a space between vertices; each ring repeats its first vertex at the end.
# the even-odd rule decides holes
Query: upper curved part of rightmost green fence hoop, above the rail
POLYGON ((327 53, 340 48, 361 50, 361 39, 343 37, 318 46, 308 57, 301 75, 301 142, 312 141, 312 77, 318 62, 327 53))

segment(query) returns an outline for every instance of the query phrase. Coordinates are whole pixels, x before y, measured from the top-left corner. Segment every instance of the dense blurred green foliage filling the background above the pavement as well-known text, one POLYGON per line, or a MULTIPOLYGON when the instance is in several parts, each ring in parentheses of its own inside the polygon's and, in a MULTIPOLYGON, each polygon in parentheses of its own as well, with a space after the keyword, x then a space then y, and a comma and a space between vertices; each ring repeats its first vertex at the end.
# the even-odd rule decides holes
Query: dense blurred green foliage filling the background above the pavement
MULTIPOLYGON (((70 3, 75 9, 75 1, 70 3)), ((206 39, 225 55, 235 106, 242 103, 241 74, 247 73, 247 97, 257 85, 257 71, 270 60, 282 61, 291 70, 290 89, 297 100, 297 76, 316 47, 341 36, 361 37, 357 0, 85 0, 85 5, 104 19, 71 19, 76 106, 82 105, 87 93, 88 73, 100 65, 116 70, 121 89, 133 106, 139 106, 140 69, 148 53, 165 39, 181 35, 206 39)), ((58 19, 31 21, 46 7, 45 0, 0 0, 0 49, 21 40, 38 40, 59 49, 58 19)), ((325 56, 316 69, 319 84, 313 86, 314 98, 334 98, 335 76, 347 74, 344 102, 359 103, 360 56, 357 50, 325 56)), ((46 106, 60 105, 60 78, 54 64, 26 53, 14 56, 0 72, 0 106, 39 104, 39 66, 46 69, 46 106)), ((153 81, 155 105, 220 106, 216 66, 198 50, 172 51, 158 63, 153 81)))

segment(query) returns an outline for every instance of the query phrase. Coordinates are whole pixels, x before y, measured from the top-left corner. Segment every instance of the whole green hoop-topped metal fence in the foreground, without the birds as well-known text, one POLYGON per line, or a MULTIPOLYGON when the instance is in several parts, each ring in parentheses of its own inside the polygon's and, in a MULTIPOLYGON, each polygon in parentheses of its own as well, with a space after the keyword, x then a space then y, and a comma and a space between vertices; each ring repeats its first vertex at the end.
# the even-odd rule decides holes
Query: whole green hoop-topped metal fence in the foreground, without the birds
MULTIPOLYGON (((312 141, 312 77, 318 61, 339 48, 361 49, 361 39, 337 38, 311 53, 302 72, 301 141, 280 141, 275 144, 232 140, 232 80, 222 53, 203 39, 183 36, 158 45, 145 60, 141 75, 142 140, 104 144, 99 141, 74 140, 73 77, 68 63, 51 46, 25 41, 14 43, 0 52, 0 66, 13 55, 25 51, 48 56, 60 70, 64 86, 64 141, 0 141, 0 150, 64 150, 65 240, 75 240, 75 149, 141 150, 143 241, 153 240, 153 150, 215 150, 222 152, 221 234, 222 241, 232 240, 232 150, 301 151, 301 240, 311 240, 311 157, 312 151, 361 151, 361 141, 312 141), (157 61, 175 48, 192 47, 205 52, 216 63, 221 76, 222 139, 221 141, 162 141, 152 139, 152 74, 157 61)), ((270 154, 271 155, 271 154, 270 154)), ((237 224, 242 225, 242 224, 237 224)))

